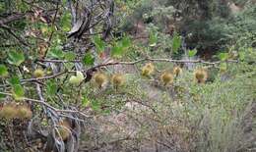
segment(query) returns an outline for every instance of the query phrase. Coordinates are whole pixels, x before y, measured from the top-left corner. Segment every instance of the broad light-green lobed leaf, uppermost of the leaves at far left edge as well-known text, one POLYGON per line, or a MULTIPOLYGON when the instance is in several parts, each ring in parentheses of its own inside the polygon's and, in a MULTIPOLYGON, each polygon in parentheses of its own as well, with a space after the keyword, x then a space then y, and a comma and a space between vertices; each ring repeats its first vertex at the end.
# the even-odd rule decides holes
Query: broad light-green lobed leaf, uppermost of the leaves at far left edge
POLYGON ((10 51, 8 52, 8 62, 12 65, 20 66, 24 61, 25 57, 23 52, 19 51, 10 51))

